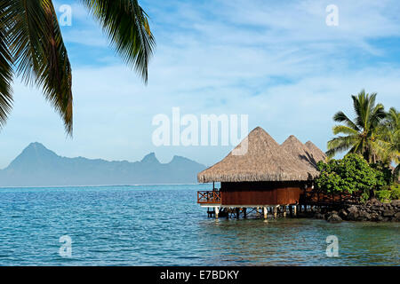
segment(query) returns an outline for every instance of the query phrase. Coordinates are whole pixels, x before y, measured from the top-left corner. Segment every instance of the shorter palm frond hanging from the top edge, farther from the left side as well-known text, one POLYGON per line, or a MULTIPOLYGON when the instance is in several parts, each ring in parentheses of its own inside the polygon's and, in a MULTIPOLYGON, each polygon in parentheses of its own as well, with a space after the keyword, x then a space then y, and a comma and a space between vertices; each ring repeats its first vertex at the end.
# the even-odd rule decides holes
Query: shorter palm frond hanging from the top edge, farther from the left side
POLYGON ((148 61, 155 39, 148 15, 137 0, 81 0, 100 21, 110 43, 125 63, 131 65, 148 82, 148 61))

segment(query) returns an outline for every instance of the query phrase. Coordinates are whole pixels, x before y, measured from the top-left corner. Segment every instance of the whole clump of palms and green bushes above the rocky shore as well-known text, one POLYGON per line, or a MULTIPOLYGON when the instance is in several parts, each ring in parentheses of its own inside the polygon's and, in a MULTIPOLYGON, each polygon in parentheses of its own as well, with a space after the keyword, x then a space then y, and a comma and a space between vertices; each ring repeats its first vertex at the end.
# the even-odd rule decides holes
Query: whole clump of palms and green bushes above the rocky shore
POLYGON ((321 172, 316 178, 317 190, 350 193, 364 202, 372 197, 385 202, 400 199, 400 113, 395 107, 385 112, 383 105, 376 104, 376 97, 364 90, 351 96, 354 120, 341 111, 333 116, 341 124, 332 129, 338 136, 328 142, 328 161, 317 165, 321 172), (345 151, 342 159, 332 159, 345 151))

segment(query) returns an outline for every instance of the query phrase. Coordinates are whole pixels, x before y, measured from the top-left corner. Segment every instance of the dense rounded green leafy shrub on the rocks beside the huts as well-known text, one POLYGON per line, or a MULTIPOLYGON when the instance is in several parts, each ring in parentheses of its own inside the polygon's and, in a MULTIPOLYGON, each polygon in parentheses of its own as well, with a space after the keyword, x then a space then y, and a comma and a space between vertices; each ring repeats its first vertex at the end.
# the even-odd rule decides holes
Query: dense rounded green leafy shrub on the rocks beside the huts
POLYGON ((388 185, 384 173, 372 169, 358 154, 347 154, 328 163, 318 162, 317 167, 321 174, 316 178, 316 187, 326 193, 360 193, 366 201, 372 190, 388 185))

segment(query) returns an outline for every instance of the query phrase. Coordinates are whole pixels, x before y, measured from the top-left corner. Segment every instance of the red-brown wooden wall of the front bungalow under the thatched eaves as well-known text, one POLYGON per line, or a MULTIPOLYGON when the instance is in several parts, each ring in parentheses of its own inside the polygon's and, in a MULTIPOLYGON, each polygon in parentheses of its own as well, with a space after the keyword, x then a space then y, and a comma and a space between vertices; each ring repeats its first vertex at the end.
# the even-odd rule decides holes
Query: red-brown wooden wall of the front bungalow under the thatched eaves
POLYGON ((304 182, 222 182, 221 205, 295 204, 304 188, 304 182))

